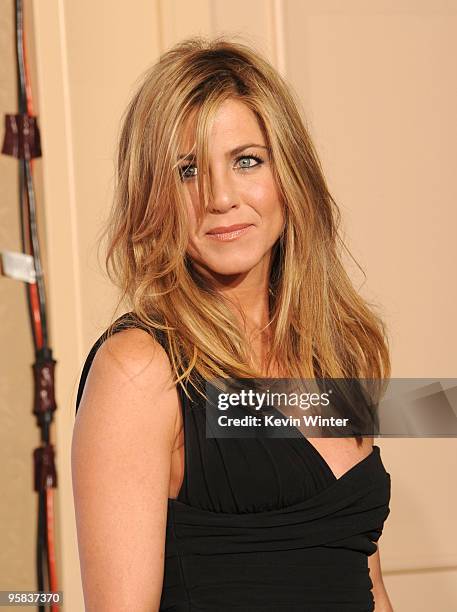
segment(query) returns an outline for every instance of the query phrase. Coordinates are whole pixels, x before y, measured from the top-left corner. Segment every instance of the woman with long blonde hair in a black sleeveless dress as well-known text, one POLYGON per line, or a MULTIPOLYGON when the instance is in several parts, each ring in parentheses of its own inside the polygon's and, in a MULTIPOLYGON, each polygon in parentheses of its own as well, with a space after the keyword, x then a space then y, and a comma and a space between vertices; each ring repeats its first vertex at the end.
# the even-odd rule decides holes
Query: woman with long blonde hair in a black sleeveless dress
POLYGON ((261 56, 194 38, 147 71, 107 225, 130 311, 92 347, 77 399, 86 610, 392 610, 375 543, 390 477, 372 437, 205 435, 214 377, 389 376, 338 223, 261 56))

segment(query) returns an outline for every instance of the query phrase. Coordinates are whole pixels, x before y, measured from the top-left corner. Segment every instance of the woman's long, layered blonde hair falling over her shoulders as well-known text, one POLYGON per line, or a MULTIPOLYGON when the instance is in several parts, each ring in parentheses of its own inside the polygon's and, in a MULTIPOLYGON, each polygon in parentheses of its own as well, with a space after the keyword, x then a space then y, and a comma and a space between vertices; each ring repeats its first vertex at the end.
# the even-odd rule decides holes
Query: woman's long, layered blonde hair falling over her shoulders
MULTIPOLYGON (((227 298, 186 254, 178 171, 183 129, 194 118, 203 215, 211 198, 204 180, 208 135, 228 98, 242 101, 259 121, 285 212, 285 229, 272 252, 268 367, 281 364, 291 378, 387 379, 385 326, 343 268, 341 249, 349 250, 338 232, 341 215, 299 104, 259 53, 223 36, 187 39, 165 52, 141 76, 123 116, 114 205, 105 228, 106 270, 120 289, 117 308, 126 303, 146 330, 166 334, 175 384, 195 386, 198 375, 263 376, 250 365, 227 298)), ((107 335, 115 329, 112 323, 107 335)))

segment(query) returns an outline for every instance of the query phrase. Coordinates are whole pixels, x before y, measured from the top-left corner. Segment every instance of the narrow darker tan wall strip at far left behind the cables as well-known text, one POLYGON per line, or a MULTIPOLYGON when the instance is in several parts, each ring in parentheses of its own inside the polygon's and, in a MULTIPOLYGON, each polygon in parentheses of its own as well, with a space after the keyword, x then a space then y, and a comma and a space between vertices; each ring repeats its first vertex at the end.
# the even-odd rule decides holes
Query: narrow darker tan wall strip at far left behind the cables
MULTIPOLYGON (((36 92, 34 24, 30 0, 24 1, 28 66, 32 89, 36 92)), ((6 113, 18 112, 14 2, 0 5, 0 111, 3 144, 6 113)), ((40 115, 35 94, 34 113, 40 115)), ((18 161, 0 155, 0 250, 21 251, 19 221, 18 161)), ((37 218, 43 268, 48 277, 46 226, 43 202, 42 160, 33 162, 37 218)), ((47 278, 47 280, 49 280, 47 278)), ((33 372, 35 360, 30 320, 23 283, 0 277, 0 590, 36 588, 37 494, 33 481, 33 451, 40 444, 40 432, 33 415, 33 372)), ((51 329, 51 343, 52 343, 51 329)), ((55 432, 51 442, 55 444, 55 432)), ((55 513, 60 514, 60 497, 54 497, 55 513)), ((60 525, 56 525, 60 541, 60 525)), ((56 560, 61 566, 61 547, 56 560)), ((30 610, 19 606, 17 610, 30 610)))

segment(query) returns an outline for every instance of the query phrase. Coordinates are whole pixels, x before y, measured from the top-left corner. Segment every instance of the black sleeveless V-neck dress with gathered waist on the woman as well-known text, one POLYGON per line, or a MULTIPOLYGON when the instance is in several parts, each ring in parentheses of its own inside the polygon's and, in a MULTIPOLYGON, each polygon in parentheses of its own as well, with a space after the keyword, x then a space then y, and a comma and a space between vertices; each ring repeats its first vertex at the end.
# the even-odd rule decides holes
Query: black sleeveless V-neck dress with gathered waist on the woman
MULTIPOLYGON (((132 326, 130 313, 120 319, 132 326)), ((76 410, 104 339, 85 361, 76 410)), ((168 499, 160 611, 374 610, 368 556, 390 512, 380 448, 337 479, 298 428, 293 438, 207 438, 204 400, 188 391, 192 401, 178 385, 185 475, 168 499)))

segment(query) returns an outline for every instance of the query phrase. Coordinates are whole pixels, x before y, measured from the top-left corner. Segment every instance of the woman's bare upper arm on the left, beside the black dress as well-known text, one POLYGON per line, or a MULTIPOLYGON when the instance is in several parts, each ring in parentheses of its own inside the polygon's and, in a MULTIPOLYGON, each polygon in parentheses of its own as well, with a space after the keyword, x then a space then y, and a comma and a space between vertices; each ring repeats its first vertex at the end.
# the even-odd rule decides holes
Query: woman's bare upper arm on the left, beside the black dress
POLYGON ((177 390, 163 348, 128 329, 98 349, 71 465, 86 610, 158 610, 177 390))

